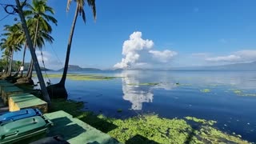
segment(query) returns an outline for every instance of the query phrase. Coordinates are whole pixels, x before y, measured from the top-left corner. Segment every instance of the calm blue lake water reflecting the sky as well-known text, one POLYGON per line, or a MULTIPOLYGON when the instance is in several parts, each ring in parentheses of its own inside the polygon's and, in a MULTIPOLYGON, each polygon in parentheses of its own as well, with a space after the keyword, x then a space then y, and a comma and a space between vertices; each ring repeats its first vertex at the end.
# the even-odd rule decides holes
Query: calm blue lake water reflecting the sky
MULTIPOLYGON (((164 118, 211 119, 218 121, 215 126, 219 130, 256 142, 256 96, 234 93, 242 90, 242 94, 256 94, 256 71, 127 70, 96 74, 122 78, 66 81, 69 98, 86 102, 85 110, 115 118, 154 113, 164 118), (136 85, 146 82, 159 85, 136 85)), ((51 82, 58 82, 58 78, 51 82)))

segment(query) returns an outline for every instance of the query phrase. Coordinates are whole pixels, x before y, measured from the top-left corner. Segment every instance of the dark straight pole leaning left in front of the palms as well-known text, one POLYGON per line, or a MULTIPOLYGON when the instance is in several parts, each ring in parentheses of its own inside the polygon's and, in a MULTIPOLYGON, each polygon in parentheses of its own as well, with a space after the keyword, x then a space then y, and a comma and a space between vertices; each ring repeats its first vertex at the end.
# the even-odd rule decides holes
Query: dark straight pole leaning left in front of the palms
POLYGON ((48 103, 48 106, 50 107, 49 94, 48 94, 48 91, 46 89, 46 84, 44 82, 44 79, 42 77, 42 71, 40 70, 40 66, 38 64, 38 58, 37 58, 37 55, 35 54, 33 43, 32 43, 31 38, 30 38, 30 32, 29 32, 29 30, 26 26, 26 20, 25 20, 24 15, 23 15, 22 7, 20 5, 19 0, 15 0, 15 2, 17 4, 18 14, 19 14, 19 16, 21 18, 21 21, 22 21, 22 27, 23 27, 23 29, 25 31, 25 34, 26 34, 26 40, 27 40, 29 48, 30 48, 30 54, 31 54, 31 57, 33 58, 33 61, 34 61, 34 68, 35 68, 35 70, 37 72, 37 75, 38 75, 39 84, 40 84, 41 90, 42 90, 42 97, 48 103))

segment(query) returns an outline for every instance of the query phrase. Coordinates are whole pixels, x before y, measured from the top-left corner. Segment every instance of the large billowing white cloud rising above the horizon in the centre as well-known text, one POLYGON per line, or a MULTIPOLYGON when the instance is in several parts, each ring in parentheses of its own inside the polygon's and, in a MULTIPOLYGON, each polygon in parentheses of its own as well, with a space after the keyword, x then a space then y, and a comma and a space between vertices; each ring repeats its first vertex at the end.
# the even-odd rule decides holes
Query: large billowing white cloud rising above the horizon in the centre
POLYGON ((130 38, 123 43, 121 62, 114 65, 114 68, 129 68, 134 66, 150 66, 154 63, 170 62, 170 59, 177 55, 177 52, 170 50, 152 50, 154 42, 149 39, 142 39, 142 32, 135 31, 130 38))

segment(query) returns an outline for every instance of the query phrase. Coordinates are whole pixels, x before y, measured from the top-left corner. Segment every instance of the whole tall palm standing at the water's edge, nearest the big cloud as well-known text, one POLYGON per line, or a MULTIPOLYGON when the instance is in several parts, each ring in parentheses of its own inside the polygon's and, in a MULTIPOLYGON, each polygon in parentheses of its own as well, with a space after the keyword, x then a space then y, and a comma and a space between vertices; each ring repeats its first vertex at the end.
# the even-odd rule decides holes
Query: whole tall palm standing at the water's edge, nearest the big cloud
MULTIPOLYGON (((67 6, 66 10, 70 10, 70 3, 72 0, 67 0, 67 6)), ((96 19, 96 5, 95 5, 95 0, 74 0, 74 2, 77 3, 76 10, 74 13, 74 20, 72 22, 71 30, 70 30, 70 37, 67 45, 67 50, 66 50, 66 61, 65 61, 65 66, 62 74, 62 79, 58 84, 48 86, 48 92, 52 97, 58 97, 62 96, 63 98, 67 98, 67 93, 66 93, 66 88, 65 88, 65 82, 66 82, 66 74, 69 66, 69 61, 70 61, 70 49, 71 49, 71 44, 72 44, 72 39, 73 39, 73 34, 74 34, 74 28, 75 24, 77 22, 78 14, 82 15, 82 20, 83 22, 86 23, 86 13, 84 10, 84 6, 86 5, 86 2, 88 6, 91 7, 94 15, 94 20, 96 19)))

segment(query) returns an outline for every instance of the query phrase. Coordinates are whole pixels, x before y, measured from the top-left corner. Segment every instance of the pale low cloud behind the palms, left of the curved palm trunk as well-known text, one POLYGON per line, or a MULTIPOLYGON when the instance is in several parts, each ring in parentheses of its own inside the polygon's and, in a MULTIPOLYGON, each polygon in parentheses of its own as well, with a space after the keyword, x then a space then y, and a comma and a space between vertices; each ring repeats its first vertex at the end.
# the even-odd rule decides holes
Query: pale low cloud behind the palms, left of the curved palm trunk
POLYGON ((57 70, 62 67, 62 62, 59 62, 57 58, 54 58, 52 54, 50 54, 48 51, 36 51, 38 62, 40 66, 43 66, 42 60, 45 63, 45 66, 47 69, 54 69, 57 70))

